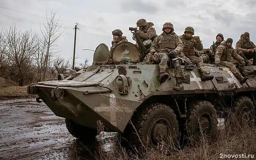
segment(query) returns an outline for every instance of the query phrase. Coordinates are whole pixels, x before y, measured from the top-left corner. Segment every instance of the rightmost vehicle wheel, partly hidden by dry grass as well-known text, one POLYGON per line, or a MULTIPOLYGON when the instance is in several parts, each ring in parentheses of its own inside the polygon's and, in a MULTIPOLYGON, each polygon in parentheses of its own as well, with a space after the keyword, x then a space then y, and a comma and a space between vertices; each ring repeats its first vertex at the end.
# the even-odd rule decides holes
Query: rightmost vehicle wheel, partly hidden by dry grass
POLYGON ((255 110, 252 100, 249 97, 241 96, 236 99, 234 108, 234 114, 230 116, 228 114, 227 124, 232 128, 238 126, 245 126, 254 124, 255 110))

